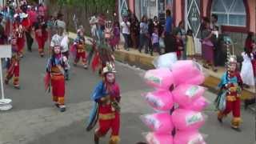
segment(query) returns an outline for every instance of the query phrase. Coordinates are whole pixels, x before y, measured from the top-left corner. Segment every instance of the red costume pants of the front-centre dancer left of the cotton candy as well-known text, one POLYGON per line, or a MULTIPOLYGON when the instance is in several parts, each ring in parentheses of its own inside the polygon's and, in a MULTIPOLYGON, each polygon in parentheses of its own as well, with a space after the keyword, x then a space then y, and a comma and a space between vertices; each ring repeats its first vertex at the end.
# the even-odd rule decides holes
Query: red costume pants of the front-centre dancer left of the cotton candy
POLYGON ((111 142, 119 142, 120 114, 111 110, 110 105, 99 107, 99 128, 96 130, 100 136, 105 136, 111 129, 111 142))

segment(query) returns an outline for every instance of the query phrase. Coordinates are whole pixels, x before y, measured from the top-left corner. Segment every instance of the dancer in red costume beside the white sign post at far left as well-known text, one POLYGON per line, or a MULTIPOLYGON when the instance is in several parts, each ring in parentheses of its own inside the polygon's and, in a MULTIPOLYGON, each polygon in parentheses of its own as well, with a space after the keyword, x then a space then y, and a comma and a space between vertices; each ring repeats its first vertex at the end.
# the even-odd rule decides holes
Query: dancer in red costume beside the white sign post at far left
POLYGON ((13 78, 14 88, 20 89, 19 86, 19 53, 18 53, 18 32, 14 30, 10 38, 12 56, 7 58, 6 61, 6 85, 9 83, 10 79, 13 78))

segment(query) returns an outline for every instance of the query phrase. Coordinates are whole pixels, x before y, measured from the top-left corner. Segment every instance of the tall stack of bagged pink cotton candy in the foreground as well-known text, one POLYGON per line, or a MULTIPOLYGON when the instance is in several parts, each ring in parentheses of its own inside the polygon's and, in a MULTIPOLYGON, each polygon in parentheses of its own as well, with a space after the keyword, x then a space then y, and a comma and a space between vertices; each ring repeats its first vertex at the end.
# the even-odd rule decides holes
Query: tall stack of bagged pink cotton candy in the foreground
POLYGON ((176 61, 175 54, 154 60, 157 69, 148 70, 145 82, 154 91, 143 94, 156 112, 141 116, 151 132, 145 134, 149 144, 205 144, 199 133, 206 120, 202 110, 209 105, 203 97, 205 88, 202 66, 194 61, 176 61), (164 62, 164 63, 161 63, 164 62))

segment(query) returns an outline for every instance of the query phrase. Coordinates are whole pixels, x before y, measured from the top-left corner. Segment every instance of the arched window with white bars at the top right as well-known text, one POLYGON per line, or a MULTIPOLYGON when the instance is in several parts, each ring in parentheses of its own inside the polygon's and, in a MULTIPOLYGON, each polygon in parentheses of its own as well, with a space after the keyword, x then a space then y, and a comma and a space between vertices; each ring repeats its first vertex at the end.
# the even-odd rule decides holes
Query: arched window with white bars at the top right
POLYGON ((214 0, 211 14, 218 15, 223 26, 246 26, 246 7, 243 0, 214 0))

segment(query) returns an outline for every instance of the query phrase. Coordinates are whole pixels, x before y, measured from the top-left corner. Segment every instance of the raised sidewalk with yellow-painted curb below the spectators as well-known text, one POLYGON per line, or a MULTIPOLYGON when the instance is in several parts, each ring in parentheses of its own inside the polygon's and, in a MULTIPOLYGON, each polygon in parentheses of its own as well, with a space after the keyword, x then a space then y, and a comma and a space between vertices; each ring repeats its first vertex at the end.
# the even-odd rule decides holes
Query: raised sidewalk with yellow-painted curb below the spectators
MULTIPOLYGON (((69 38, 74 39, 76 38, 76 34, 69 32, 69 38)), ((89 39, 86 37, 86 39, 89 39)), ((86 41, 90 45, 89 41, 86 41)), ((152 64, 155 57, 158 56, 157 53, 154 53, 154 56, 150 56, 150 54, 139 53, 138 50, 130 49, 130 51, 126 51, 123 49, 122 45, 119 45, 121 50, 115 50, 114 57, 117 61, 122 63, 128 63, 130 66, 138 66, 144 70, 154 69, 154 65, 152 64)), ((198 61, 199 63, 200 60, 198 61)), ((224 67, 218 67, 218 72, 214 72, 212 70, 206 71, 206 81, 204 82, 203 86, 209 88, 210 91, 214 92, 215 94, 218 92, 216 90, 216 86, 220 82, 222 74, 225 70, 224 67)), ((246 98, 253 98, 255 96, 256 90, 255 87, 251 87, 250 89, 242 90, 242 99, 246 98)))

